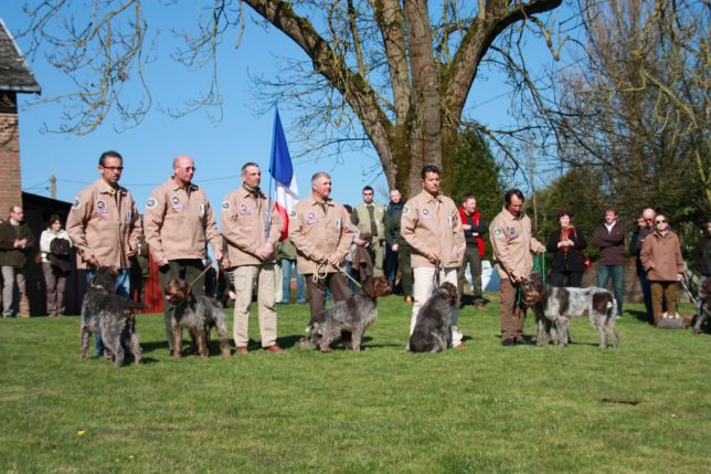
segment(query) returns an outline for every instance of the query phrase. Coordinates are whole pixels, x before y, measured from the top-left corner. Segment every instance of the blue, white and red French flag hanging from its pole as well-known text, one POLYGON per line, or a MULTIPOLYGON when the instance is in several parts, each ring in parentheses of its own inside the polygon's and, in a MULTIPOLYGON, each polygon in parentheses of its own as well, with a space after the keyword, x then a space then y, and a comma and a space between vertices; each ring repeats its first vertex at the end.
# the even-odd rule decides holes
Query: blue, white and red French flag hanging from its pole
POLYGON ((269 175, 276 181, 275 206, 284 220, 284 230, 280 240, 288 236, 289 212, 294 210, 299 200, 299 190, 296 186, 296 175, 291 165, 291 156, 286 145, 284 127, 279 118, 279 109, 275 108, 274 135, 272 137, 272 158, 269 160, 269 175))

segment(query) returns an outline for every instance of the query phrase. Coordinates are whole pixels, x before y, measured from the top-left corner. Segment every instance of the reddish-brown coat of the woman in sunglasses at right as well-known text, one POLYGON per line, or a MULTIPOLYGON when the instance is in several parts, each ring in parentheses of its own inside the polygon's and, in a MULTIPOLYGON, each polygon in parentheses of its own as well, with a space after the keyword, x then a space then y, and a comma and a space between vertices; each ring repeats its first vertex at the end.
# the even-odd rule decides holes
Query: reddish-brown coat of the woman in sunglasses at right
POLYGON ((647 280, 650 282, 676 282, 677 275, 683 273, 679 238, 671 231, 665 236, 652 232, 645 239, 639 260, 647 270, 647 280))

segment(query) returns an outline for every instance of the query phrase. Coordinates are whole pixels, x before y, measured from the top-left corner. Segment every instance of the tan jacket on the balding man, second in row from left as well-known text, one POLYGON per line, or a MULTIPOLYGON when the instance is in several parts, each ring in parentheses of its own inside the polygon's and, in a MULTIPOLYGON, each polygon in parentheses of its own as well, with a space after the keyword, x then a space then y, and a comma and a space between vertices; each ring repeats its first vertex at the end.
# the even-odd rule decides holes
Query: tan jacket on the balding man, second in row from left
POLYGON ((157 262, 204 259, 208 242, 222 251, 208 196, 195 185, 180 187, 170 178, 156 188, 146 203, 144 232, 157 262))

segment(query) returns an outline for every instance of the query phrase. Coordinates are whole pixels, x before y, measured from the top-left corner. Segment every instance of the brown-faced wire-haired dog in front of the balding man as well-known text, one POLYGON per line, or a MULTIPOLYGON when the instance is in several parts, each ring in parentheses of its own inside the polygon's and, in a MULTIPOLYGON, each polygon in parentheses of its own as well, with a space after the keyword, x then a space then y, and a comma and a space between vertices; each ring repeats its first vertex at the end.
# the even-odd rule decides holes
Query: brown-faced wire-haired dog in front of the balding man
POLYGON ((230 357, 230 341, 227 339, 227 326, 225 324, 222 307, 213 298, 195 295, 190 285, 182 278, 172 277, 166 288, 166 299, 173 306, 171 319, 173 328, 172 357, 178 359, 182 356, 182 330, 188 329, 195 343, 198 355, 205 358, 210 354, 208 340, 210 329, 217 329, 220 350, 224 357, 230 357))

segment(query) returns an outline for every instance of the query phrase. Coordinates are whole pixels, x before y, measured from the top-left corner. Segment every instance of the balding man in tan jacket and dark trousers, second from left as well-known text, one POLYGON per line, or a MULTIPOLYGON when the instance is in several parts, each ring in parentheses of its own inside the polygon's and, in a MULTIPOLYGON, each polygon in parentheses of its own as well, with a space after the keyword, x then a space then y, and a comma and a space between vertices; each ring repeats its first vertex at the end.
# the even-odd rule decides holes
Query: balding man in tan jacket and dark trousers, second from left
MULTIPOLYGON (((217 232, 210 201, 204 191, 192 183, 195 165, 192 158, 179 156, 173 160, 173 176, 153 189, 144 212, 146 242, 159 265, 158 281, 162 288, 178 276, 204 293, 204 266, 208 242, 215 260, 222 259, 222 236, 217 232)), ((166 337, 172 351, 173 306, 163 294, 166 337)))

